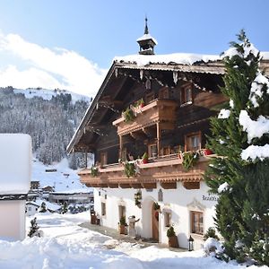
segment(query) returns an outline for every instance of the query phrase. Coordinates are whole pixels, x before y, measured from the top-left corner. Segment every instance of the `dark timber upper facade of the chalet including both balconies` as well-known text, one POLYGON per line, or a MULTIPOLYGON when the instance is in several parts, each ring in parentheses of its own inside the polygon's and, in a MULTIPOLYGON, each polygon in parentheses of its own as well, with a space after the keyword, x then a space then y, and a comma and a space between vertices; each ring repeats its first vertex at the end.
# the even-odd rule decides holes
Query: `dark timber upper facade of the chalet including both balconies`
POLYGON ((72 142, 71 152, 92 152, 98 175, 91 169, 79 173, 89 187, 163 188, 176 181, 203 178, 208 157, 203 156, 209 118, 227 100, 220 91, 224 73, 220 62, 195 65, 115 62, 91 103, 72 142), (143 106, 137 105, 143 100, 143 106), (134 118, 126 122, 124 111, 134 118), (182 166, 182 152, 200 152, 194 168, 182 166), (142 164, 147 152, 149 163, 142 164), (120 160, 120 161, 119 161, 120 160), (136 161, 135 177, 127 178, 121 161, 136 161))

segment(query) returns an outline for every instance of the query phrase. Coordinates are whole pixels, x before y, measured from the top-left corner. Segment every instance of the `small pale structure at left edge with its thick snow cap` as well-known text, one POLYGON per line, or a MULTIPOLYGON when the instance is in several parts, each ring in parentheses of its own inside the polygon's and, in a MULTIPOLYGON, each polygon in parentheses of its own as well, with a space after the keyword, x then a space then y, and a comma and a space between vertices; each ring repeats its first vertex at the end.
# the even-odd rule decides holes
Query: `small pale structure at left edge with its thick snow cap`
POLYGON ((0 238, 25 238, 30 169, 30 135, 0 134, 0 238))

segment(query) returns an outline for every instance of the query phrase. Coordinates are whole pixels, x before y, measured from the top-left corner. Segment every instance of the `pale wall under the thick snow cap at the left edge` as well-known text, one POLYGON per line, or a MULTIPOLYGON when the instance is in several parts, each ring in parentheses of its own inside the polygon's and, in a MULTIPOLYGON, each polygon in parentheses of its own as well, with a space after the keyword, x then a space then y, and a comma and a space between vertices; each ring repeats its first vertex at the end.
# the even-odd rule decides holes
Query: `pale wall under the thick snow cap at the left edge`
POLYGON ((0 238, 22 240, 25 238, 25 201, 1 201, 0 238))

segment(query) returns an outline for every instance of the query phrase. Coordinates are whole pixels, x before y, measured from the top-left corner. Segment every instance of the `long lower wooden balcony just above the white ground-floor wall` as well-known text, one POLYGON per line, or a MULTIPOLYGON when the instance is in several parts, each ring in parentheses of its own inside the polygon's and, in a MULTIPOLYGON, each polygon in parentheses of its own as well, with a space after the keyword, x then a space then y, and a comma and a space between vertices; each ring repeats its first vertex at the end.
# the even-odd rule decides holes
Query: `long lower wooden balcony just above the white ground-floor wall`
POLYGON ((178 154, 157 158, 149 163, 136 164, 137 173, 127 178, 124 164, 111 164, 99 169, 97 177, 91 176, 91 169, 79 172, 81 182, 87 187, 121 187, 121 188, 156 188, 160 182, 163 188, 177 188, 177 181, 183 182, 187 189, 199 188, 209 157, 202 156, 195 166, 186 170, 182 166, 182 158, 178 154))

